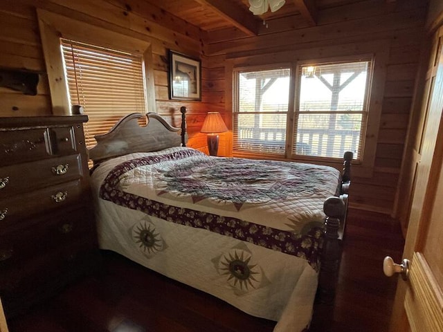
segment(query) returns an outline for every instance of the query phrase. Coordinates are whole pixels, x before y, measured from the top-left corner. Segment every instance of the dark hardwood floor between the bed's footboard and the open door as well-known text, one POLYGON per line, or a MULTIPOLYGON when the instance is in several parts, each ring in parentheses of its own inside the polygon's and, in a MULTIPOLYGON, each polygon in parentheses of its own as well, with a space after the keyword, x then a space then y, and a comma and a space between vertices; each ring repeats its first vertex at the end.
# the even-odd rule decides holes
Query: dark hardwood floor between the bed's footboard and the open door
POLYGON ((311 332, 388 331, 397 277, 383 274, 383 259, 401 261, 403 247, 388 216, 350 210, 334 308, 316 305, 311 332))

